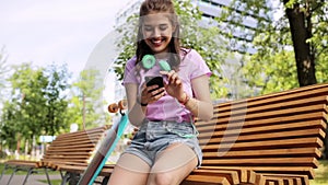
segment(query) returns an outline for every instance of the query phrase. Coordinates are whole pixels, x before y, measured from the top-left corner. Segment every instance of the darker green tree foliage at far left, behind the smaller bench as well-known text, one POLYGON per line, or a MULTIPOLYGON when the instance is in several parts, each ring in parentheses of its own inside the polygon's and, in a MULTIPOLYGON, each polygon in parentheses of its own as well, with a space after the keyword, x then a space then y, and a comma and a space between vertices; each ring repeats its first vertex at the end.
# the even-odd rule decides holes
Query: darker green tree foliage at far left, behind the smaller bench
POLYGON ((55 135, 68 127, 65 91, 66 67, 33 68, 31 63, 14 67, 9 78, 11 95, 3 104, 1 140, 14 148, 16 140, 28 140, 42 135, 55 135))

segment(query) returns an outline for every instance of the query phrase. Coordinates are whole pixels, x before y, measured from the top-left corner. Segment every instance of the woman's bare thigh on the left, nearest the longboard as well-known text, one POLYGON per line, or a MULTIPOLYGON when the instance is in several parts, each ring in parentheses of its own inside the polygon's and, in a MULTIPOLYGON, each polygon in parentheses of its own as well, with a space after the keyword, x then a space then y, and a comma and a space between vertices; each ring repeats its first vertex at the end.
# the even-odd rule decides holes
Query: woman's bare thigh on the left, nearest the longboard
POLYGON ((144 185, 150 166, 137 155, 124 153, 117 161, 108 185, 144 185))

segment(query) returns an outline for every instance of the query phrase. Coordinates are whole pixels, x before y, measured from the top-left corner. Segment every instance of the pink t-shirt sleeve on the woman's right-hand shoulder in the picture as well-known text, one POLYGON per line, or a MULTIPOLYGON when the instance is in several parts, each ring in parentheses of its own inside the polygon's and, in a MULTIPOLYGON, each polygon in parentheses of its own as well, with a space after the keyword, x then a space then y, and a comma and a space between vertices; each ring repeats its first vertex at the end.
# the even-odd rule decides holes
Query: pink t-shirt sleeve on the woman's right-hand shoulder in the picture
POLYGON ((190 79, 195 79, 203 74, 208 77, 212 74, 203 58, 195 49, 191 49, 190 53, 186 56, 186 58, 191 65, 190 79))

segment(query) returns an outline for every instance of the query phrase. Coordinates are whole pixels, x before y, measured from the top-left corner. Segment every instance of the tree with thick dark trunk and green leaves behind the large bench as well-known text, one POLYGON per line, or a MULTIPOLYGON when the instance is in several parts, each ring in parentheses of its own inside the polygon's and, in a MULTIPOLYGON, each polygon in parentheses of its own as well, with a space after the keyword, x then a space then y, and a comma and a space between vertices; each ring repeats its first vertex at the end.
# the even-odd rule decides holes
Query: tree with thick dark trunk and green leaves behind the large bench
POLYGON ((257 22, 251 39, 256 53, 244 59, 248 84, 269 93, 327 81, 327 2, 270 2, 235 0, 221 18, 243 28, 246 19, 257 22))

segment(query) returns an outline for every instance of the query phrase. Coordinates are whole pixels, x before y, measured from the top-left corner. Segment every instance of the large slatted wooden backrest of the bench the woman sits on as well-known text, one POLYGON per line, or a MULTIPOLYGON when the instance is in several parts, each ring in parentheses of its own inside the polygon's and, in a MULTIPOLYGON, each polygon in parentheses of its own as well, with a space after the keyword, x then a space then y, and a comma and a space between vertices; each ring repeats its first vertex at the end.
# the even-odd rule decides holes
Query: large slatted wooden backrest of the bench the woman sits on
POLYGON ((314 177, 327 126, 328 84, 218 104, 197 122, 202 166, 314 177))

